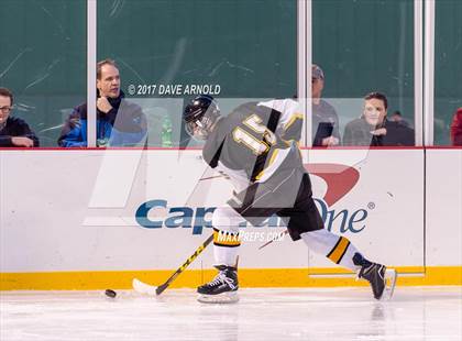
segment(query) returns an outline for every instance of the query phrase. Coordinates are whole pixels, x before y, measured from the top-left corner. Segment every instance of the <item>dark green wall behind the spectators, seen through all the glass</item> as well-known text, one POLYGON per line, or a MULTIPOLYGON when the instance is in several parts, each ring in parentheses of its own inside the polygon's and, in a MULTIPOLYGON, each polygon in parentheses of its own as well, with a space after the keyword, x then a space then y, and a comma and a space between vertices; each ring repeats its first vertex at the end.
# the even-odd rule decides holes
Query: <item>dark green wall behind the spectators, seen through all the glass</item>
MULTIPOLYGON (((63 120, 87 97, 86 11, 87 0, 1 0, 0 86, 13 90, 13 114, 45 146, 56 145, 63 120)), ((462 106, 461 22, 462 2, 436 2, 436 144, 449 143, 462 106)), ((221 98, 296 92, 296 0, 98 0, 97 35, 98 59, 118 62, 125 92, 132 84, 219 85, 221 98)), ((312 46, 341 125, 360 114, 348 99, 361 103, 375 90, 414 123, 414 1, 314 0, 312 46)), ((182 140, 182 100, 191 96, 128 97, 152 118, 151 145, 165 114, 182 140)))

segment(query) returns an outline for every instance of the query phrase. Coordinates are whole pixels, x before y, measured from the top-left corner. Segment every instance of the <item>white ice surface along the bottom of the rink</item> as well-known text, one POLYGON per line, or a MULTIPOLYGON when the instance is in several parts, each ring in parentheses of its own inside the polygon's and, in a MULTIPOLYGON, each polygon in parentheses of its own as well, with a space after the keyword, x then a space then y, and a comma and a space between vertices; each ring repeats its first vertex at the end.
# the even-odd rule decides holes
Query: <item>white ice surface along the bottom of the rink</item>
POLYGON ((233 305, 194 290, 1 292, 0 340, 462 340, 462 287, 240 289, 233 305))

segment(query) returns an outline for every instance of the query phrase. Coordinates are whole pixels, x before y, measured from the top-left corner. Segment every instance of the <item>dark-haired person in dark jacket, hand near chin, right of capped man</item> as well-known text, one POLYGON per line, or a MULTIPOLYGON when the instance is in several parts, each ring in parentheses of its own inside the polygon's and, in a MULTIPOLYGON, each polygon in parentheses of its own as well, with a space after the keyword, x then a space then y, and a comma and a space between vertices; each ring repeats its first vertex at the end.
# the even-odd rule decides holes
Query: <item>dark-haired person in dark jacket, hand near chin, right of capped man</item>
POLYGON ((381 92, 364 97, 364 112, 361 118, 346 124, 344 145, 414 145, 414 129, 386 119, 388 101, 381 92))

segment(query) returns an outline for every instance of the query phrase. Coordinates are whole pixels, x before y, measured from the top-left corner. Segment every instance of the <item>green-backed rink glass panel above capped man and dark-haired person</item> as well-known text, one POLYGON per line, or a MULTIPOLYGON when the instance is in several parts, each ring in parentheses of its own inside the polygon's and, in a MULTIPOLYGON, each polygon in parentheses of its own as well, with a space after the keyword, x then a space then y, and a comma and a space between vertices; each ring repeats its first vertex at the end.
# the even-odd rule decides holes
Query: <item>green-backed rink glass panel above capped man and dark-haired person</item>
POLYGON ((312 63, 324 72, 322 97, 341 136, 372 91, 386 95, 388 116, 399 110, 414 127, 413 0, 314 0, 312 63))

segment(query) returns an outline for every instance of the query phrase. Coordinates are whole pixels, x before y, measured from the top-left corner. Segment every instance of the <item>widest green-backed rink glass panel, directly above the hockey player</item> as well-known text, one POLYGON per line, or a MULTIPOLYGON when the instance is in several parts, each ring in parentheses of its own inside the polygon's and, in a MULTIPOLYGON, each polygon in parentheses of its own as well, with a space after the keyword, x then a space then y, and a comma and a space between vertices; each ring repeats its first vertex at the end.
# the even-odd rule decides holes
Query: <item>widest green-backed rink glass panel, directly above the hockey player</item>
POLYGON ((178 145, 183 103, 175 99, 194 97, 185 94, 187 85, 218 85, 211 95, 219 98, 296 94, 297 1, 99 0, 98 59, 107 57, 118 62, 128 98, 148 116, 148 144, 161 145, 168 114, 178 145), (162 92, 167 85, 184 88, 162 92))

